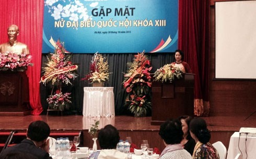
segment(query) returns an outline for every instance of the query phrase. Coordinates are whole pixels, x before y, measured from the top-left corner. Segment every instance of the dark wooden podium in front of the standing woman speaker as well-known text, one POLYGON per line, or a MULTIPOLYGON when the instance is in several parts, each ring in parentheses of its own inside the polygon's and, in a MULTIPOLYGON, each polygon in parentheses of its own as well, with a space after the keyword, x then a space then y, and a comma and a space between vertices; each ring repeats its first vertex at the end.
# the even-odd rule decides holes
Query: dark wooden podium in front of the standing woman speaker
POLYGON ((151 125, 160 125, 181 115, 193 116, 193 111, 194 74, 183 74, 172 83, 153 82, 151 125))

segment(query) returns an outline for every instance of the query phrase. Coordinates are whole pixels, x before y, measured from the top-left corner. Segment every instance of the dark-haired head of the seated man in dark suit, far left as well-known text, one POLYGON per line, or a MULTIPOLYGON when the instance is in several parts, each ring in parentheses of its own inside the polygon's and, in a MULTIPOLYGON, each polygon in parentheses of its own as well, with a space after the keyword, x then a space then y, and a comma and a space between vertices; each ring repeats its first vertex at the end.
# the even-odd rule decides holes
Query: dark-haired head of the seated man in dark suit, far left
POLYGON ((43 121, 35 121, 29 124, 27 136, 33 141, 43 141, 50 135, 50 127, 43 121))

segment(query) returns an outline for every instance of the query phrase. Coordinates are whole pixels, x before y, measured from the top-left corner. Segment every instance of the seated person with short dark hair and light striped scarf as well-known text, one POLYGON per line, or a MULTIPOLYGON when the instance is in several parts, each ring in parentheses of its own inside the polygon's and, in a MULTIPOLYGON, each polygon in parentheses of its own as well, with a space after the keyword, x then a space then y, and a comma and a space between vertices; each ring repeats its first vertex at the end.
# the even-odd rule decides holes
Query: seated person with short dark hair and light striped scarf
POLYGON ((159 135, 166 145, 166 148, 160 154, 160 159, 192 158, 190 153, 180 144, 183 138, 183 131, 181 122, 178 119, 168 120, 162 123, 159 135))

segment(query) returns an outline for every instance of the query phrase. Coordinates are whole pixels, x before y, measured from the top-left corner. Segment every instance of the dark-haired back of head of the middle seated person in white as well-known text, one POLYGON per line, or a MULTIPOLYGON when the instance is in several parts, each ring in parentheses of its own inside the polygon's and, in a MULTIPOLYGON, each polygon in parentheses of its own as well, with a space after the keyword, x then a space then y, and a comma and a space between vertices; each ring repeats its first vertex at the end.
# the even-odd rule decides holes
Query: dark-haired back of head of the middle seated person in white
POLYGON ((101 128, 98 134, 98 140, 101 149, 115 149, 119 142, 120 136, 117 128, 112 125, 106 125, 101 128))

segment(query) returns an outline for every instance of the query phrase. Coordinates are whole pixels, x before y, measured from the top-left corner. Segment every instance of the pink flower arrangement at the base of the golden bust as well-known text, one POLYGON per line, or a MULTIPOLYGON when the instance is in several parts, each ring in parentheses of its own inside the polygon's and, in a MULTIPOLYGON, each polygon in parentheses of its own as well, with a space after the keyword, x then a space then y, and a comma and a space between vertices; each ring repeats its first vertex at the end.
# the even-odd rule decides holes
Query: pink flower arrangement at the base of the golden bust
POLYGON ((16 54, 14 52, 0 53, 0 71, 25 71, 28 66, 32 66, 32 56, 26 54, 16 54))

